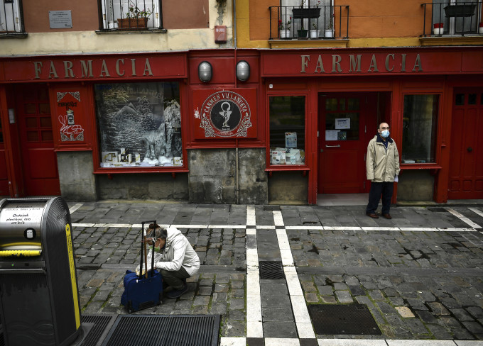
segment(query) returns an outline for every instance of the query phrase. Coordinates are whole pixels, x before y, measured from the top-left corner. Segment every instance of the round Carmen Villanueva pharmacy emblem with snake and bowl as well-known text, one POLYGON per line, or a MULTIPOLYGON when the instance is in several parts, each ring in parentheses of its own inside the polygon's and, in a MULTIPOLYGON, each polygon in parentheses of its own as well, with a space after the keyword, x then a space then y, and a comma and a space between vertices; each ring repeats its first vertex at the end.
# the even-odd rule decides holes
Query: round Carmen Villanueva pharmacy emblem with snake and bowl
POLYGON ((210 95, 200 113, 205 137, 246 137, 246 130, 251 127, 249 104, 233 91, 210 95))

